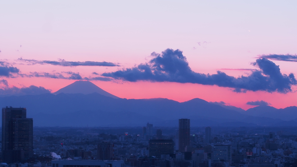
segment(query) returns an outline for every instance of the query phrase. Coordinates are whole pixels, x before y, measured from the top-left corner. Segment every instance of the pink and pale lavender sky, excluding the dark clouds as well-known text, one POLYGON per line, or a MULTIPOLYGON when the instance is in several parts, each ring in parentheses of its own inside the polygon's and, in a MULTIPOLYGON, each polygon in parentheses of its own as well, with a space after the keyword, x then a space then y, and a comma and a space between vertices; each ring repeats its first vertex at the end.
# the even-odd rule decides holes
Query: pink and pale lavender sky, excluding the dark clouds
MULTIPOLYGON (((0 2, 0 61, 30 72, 71 71, 82 77, 146 63, 151 53, 167 48, 183 51, 196 73, 218 69, 258 69, 258 55, 297 53, 296 1, 17 1, 0 2), (203 42, 205 43, 203 44, 203 42), (200 43, 198 43, 200 42, 200 43), (199 45, 200 44, 200 45, 199 45), (20 47, 22 45, 22 47, 20 47), (38 61, 111 62, 116 67, 22 64, 18 58, 38 61)), ((297 62, 271 60, 282 74, 297 75, 297 62)), ((246 70, 221 70, 247 76, 246 70)), ((96 75, 97 76, 97 75, 96 75)), ((98 75, 99 76, 99 75, 98 75)), ((9 86, 43 86, 53 92, 72 79, 21 77, 0 79, 9 86)), ((179 102, 201 98, 224 101, 243 109, 248 101, 264 100, 276 108, 297 105, 292 92, 232 92, 233 88, 175 82, 92 81, 121 98, 168 98, 179 102)))

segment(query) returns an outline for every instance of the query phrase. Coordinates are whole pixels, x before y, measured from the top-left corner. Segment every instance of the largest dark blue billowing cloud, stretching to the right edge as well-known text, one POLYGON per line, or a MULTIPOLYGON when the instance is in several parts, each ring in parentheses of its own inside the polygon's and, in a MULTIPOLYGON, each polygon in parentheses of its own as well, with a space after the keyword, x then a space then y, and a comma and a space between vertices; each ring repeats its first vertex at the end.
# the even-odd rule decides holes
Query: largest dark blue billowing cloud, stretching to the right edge
POLYGON ((287 93, 292 91, 291 86, 296 85, 293 73, 286 75, 280 73, 279 66, 266 58, 257 59, 252 65, 260 70, 251 71, 248 76, 235 78, 226 73, 217 71, 217 74, 195 73, 189 67, 187 59, 182 51, 166 49, 162 54, 152 53, 153 57, 146 64, 119 70, 111 73, 103 73, 102 76, 122 79, 126 81, 157 81, 178 83, 199 83, 203 85, 217 85, 221 87, 235 88, 234 92, 267 91, 287 93))

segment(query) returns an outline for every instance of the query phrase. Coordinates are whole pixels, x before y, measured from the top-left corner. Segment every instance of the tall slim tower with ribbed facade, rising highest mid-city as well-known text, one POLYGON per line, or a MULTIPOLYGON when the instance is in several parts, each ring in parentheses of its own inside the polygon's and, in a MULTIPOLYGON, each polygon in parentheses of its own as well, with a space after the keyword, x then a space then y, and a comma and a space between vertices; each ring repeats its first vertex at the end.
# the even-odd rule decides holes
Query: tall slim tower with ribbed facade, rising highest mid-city
POLYGON ((178 119, 178 151, 190 146, 190 119, 178 119))

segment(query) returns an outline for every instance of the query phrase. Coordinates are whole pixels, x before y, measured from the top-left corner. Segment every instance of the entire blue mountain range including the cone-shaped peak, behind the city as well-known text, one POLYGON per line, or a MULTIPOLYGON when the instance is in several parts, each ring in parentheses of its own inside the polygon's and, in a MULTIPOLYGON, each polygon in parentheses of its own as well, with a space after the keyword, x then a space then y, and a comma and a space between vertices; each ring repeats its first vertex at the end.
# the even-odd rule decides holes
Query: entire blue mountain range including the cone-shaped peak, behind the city
POLYGON ((89 81, 76 81, 59 90, 63 93, 0 97, 0 104, 27 108, 34 126, 144 126, 147 122, 178 126, 180 118, 191 119, 191 126, 297 126, 296 106, 244 111, 198 98, 182 103, 164 98, 121 99, 98 88, 89 81))

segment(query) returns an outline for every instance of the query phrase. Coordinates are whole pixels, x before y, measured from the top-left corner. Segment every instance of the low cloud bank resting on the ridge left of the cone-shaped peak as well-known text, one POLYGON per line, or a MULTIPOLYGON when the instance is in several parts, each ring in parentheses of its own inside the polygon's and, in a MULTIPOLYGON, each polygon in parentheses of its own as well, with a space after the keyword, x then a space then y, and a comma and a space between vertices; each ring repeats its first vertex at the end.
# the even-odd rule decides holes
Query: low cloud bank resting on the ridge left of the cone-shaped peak
POLYGON ((31 85, 29 87, 22 87, 18 88, 15 86, 9 87, 7 80, 0 80, 0 96, 22 96, 22 95, 38 95, 38 94, 44 94, 44 93, 50 93, 50 90, 45 89, 42 86, 34 86, 31 85))

